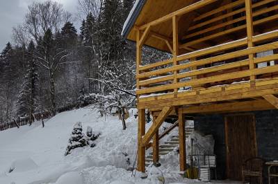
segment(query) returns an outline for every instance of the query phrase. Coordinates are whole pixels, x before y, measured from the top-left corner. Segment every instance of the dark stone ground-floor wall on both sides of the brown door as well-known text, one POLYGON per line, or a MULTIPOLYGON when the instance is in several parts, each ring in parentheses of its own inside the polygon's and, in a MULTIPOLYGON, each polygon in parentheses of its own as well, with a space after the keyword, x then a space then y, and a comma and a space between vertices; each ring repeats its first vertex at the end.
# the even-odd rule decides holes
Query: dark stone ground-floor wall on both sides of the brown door
MULTIPOLYGON (((278 160, 278 110, 255 111, 258 156, 265 160, 278 160)), ((224 115, 195 117, 195 130, 212 134, 215 138, 218 178, 226 177, 226 145, 224 115)), ((267 172, 265 169, 265 176, 267 172)))

